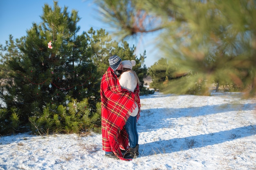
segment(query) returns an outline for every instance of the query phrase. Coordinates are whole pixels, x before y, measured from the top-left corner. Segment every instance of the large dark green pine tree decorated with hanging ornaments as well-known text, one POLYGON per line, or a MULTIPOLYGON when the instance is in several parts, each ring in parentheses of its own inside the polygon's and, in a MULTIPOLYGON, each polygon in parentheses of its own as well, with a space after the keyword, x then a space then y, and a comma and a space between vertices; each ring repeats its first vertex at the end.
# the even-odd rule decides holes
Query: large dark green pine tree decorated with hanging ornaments
POLYGON ((91 60, 89 39, 86 33, 77 35, 78 12, 68 13, 67 7, 62 10, 56 1, 53 8, 45 4, 41 19, 16 45, 10 38, 3 57, 9 67, 9 81, 1 90, 8 110, 6 126, 12 124, 17 132, 28 130, 31 123, 42 132, 66 124, 66 132, 77 132, 85 123, 78 120, 84 115, 91 117, 100 102, 99 73, 91 60), (58 109, 60 105, 65 112, 58 109))

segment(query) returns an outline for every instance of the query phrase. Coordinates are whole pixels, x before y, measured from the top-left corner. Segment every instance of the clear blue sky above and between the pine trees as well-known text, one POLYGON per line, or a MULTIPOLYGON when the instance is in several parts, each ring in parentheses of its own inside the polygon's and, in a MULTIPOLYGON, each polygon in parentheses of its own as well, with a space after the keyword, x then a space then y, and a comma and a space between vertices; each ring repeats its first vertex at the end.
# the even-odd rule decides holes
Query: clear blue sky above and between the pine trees
MULTIPOLYGON (((31 28, 32 23, 40 23, 40 15, 43 14, 44 4, 53 7, 53 0, 0 0, 0 44, 5 44, 9 40, 9 35, 13 38, 21 38, 25 36, 26 31, 31 28)), ((80 31, 88 31, 90 27, 94 30, 105 29, 110 32, 110 28, 97 19, 98 13, 92 0, 58 0, 60 7, 68 7, 68 11, 72 9, 78 11, 81 18, 78 23, 81 26, 80 31)), ((134 44, 137 47, 136 54, 143 53, 146 50, 147 58, 145 64, 147 67, 153 65, 158 59, 155 57, 155 49, 147 44, 152 36, 144 36, 139 40, 129 40, 130 46, 134 44)))

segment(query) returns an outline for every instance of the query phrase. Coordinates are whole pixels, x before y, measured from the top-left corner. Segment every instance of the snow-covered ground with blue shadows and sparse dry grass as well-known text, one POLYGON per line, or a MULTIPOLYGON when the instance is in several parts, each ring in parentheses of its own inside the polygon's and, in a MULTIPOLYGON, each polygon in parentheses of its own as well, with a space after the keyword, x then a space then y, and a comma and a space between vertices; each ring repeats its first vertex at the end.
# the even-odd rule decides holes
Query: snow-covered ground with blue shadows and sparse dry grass
POLYGON ((139 157, 104 157, 101 134, 0 136, 0 170, 255 170, 256 100, 141 96, 139 157))

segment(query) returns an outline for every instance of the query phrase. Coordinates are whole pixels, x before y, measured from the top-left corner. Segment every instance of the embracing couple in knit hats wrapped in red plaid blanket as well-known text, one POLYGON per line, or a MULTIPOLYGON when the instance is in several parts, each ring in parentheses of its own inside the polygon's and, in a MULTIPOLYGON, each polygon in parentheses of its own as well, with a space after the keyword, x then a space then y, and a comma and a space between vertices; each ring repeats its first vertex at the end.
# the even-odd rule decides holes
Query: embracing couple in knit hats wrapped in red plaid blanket
POLYGON ((132 71, 135 60, 108 59, 101 79, 102 148, 105 156, 130 160, 139 155, 137 120, 140 112, 139 79, 132 71), (130 143, 130 146, 129 146, 130 143))

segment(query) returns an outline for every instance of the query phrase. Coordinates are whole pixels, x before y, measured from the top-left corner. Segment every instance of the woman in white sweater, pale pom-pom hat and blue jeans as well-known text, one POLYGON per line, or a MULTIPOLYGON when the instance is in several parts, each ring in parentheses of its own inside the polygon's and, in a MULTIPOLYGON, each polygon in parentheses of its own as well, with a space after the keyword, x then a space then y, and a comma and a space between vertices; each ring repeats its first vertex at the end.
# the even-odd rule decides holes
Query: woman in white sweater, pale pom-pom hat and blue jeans
MULTIPOLYGON (((122 89, 126 89, 128 91, 134 92, 135 89, 139 90, 139 78, 135 71, 132 70, 132 66, 135 66, 135 60, 124 60, 123 64, 123 72, 119 77, 119 83, 122 89)), ((137 132, 137 120, 139 119, 139 112, 140 112, 140 102, 139 102, 139 95, 135 98, 135 105, 136 107, 129 112, 130 117, 126 121, 126 131, 128 133, 130 148, 124 154, 124 158, 136 158, 139 156, 139 138, 137 132)))

